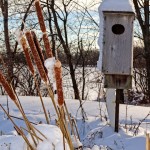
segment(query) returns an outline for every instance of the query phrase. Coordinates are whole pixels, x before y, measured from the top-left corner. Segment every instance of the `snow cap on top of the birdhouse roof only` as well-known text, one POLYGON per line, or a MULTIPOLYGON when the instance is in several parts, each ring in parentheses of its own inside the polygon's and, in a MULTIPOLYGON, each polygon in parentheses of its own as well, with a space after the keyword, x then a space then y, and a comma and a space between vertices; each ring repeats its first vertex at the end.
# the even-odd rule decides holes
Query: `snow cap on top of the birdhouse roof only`
POLYGON ((135 12, 131 0, 103 0, 99 11, 135 12))

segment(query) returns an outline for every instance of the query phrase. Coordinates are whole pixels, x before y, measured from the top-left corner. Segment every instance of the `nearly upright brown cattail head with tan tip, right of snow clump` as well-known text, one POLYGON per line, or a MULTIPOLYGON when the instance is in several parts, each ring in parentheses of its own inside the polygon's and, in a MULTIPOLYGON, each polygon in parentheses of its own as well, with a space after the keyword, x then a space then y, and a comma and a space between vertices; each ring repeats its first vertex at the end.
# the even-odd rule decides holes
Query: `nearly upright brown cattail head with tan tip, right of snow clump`
POLYGON ((64 103, 64 96, 63 96, 63 88, 62 88, 61 62, 59 60, 57 60, 54 65, 54 72, 55 72, 55 78, 56 78, 58 104, 59 106, 62 106, 64 103))

